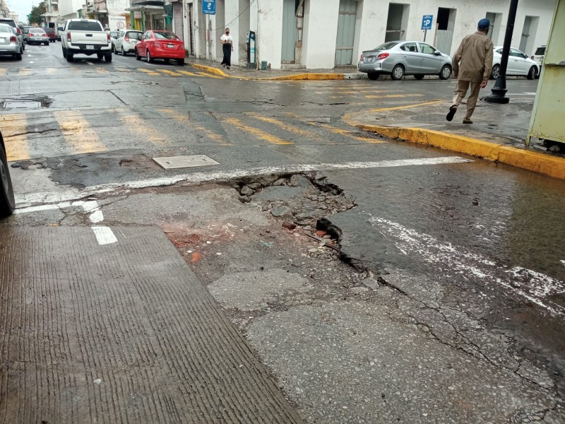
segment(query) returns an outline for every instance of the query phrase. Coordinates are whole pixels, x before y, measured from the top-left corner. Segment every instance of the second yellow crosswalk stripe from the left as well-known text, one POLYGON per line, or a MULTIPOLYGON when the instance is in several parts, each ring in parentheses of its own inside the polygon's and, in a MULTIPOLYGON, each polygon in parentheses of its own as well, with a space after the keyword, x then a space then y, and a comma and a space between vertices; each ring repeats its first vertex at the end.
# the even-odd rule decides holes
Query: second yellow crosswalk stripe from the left
POLYGON ((81 112, 61 110, 53 112, 53 116, 59 122, 59 129, 66 142, 75 153, 95 153, 107 150, 81 112))

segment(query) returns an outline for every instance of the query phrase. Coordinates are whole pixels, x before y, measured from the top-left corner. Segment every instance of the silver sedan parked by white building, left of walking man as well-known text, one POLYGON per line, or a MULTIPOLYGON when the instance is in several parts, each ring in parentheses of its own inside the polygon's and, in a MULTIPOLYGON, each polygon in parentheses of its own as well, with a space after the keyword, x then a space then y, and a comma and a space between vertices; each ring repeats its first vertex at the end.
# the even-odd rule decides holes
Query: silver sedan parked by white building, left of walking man
POLYGON ((391 41, 364 51, 357 69, 367 73, 371 80, 379 78, 381 73, 390 74, 394 80, 405 75, 416 79, 437 75, 447 79, 451 76, 451 57, 425 42, 391 41))

